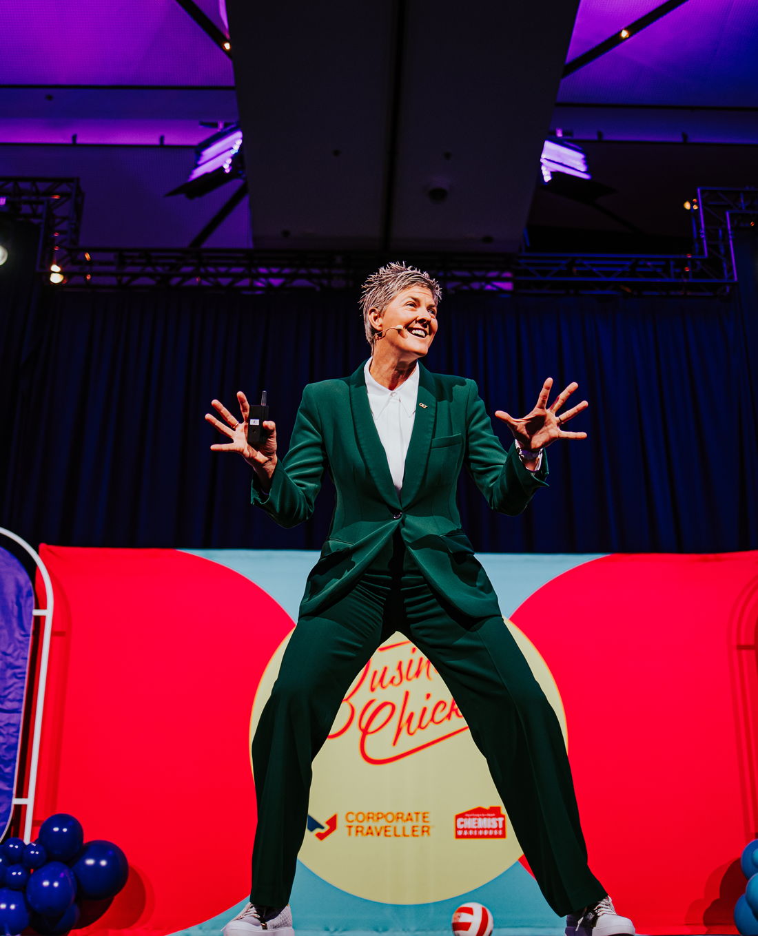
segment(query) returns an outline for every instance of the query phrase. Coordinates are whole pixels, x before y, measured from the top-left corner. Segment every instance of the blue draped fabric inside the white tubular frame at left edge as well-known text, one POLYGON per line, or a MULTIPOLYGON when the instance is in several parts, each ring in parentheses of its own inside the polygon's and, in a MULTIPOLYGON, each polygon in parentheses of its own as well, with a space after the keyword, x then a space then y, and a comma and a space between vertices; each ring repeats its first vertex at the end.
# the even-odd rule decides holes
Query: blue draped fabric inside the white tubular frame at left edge
POLYGON ((0 548, 0 836, 13 812, 34 607, 22 564, 0 548))

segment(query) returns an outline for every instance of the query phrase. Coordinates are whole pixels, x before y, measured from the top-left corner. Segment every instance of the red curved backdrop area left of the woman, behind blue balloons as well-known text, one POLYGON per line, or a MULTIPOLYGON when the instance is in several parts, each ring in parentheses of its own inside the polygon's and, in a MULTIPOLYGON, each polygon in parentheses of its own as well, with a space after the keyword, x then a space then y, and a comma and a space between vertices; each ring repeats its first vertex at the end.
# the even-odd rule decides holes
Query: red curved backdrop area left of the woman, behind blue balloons
POLYGON ((126 888, 91 930, 201 923, 249 892, 250 711, 290 617, 172 549, 40 555, 55 611, 35 830, 70 812, 124 849, 126 888))

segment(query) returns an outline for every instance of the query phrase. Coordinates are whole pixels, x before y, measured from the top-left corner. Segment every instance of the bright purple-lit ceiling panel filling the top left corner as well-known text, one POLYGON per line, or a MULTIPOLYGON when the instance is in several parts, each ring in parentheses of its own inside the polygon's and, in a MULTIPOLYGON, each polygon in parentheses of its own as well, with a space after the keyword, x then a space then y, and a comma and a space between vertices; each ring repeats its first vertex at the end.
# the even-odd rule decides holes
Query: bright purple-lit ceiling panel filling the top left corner
POLYGON ((176 0, 5 3, 3 35, 1 84, 234 84, 176 0))

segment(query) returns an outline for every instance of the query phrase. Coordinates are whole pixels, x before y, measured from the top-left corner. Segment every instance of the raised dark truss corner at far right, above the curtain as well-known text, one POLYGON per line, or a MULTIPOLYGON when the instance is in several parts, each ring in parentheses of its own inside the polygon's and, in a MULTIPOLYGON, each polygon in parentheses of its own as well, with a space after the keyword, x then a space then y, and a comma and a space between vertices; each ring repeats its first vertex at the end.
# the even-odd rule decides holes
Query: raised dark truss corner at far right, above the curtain
POLYGON ((736 281, 732 240, 737 228, 754 227, 758 221, 758 191, 754 188, 699 188, 697 208, 700 212, 698 254, 721 270, 724 280, 736 281))

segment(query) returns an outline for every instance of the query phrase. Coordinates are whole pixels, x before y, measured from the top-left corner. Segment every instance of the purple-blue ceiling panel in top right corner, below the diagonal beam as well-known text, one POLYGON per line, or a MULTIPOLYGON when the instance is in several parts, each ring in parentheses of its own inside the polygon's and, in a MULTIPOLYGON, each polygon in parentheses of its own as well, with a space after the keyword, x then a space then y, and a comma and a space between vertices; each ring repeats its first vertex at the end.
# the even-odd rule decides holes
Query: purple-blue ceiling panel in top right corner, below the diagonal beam
POLYGON ((758 3, 689 0, 561 81, 558 101, 758 106, 758 3))

